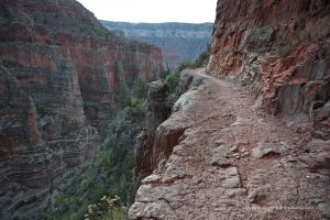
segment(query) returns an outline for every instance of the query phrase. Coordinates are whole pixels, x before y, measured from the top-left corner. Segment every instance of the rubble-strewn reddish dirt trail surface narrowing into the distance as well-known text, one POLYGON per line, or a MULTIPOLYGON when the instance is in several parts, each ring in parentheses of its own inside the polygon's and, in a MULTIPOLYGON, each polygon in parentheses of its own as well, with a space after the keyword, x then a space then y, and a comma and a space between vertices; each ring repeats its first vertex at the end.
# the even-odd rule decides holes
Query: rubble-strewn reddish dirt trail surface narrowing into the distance
POLYGON ((329 141, 265 113, 245 88, 205 69, 183 74, 204 82, 158 128, 186 130, 142 182, 130 219, 330 218, 329 141))

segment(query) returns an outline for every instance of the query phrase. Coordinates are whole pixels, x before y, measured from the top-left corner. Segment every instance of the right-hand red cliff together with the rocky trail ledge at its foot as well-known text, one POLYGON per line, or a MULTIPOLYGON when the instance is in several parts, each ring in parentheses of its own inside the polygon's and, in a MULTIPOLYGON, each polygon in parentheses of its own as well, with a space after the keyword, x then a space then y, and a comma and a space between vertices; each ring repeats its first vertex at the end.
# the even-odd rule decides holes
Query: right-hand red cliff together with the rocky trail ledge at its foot
POLYGON ((218 0, 207 68, 146 128, 129 218, 330 219, 329 53, 327 0, 218 0))

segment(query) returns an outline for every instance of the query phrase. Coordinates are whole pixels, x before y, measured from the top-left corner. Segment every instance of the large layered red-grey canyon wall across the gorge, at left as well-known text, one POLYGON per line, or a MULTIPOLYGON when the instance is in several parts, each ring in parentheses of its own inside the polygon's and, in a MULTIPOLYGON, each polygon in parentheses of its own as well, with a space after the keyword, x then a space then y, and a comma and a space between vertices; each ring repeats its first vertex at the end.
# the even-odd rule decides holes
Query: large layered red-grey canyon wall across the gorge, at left
POLYGON ((94 155, 161 51, 117 36, 75 0, 0 0, 0 219, 28 218, 94 155))

